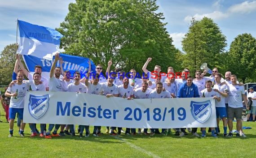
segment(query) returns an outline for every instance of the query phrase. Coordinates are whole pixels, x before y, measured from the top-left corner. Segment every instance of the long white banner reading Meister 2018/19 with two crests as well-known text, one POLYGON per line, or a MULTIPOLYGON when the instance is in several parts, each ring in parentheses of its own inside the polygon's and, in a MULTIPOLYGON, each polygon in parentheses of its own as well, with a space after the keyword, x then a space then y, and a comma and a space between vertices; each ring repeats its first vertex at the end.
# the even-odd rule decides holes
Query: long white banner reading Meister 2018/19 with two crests
POLYGON ((216 127, 213 98, 133 99, 73 92, 26 94, 23 121, 127 128, 216 127))

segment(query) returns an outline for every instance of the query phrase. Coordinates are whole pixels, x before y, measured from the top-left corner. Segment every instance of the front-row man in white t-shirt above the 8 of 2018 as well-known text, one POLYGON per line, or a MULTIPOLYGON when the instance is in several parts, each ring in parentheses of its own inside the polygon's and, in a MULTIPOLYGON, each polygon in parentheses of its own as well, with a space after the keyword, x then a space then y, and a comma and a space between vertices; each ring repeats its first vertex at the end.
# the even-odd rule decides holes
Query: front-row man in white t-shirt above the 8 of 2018
MULTIPOLYGON (((171 94, 167 90, 163 91, 163 83, 158 82, 156 84, 156 89, 151 91, 148 98, 171 98, 171 94)), ((167 135, 167 131, 165 132, 165 130, 165 128, 162 128, 162 135, 167 135)), ((154 135, 155 133, 160 133, 158 128, 151 129, 151 135, 154 135)))

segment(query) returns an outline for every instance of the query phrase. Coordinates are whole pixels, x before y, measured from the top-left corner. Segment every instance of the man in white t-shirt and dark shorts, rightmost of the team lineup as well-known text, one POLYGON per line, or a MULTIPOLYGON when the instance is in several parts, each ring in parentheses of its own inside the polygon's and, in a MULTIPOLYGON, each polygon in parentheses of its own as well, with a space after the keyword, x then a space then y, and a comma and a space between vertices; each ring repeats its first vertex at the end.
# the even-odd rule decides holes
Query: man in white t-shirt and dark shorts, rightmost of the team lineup
POLYGON ((236 128, 237 134, 236 137, 246 137, 243 133, 243 122, 242 122, 242 112, 243 112, 243 102, 247 108, 247 98, 244 91, 244 86, 239 86, 237 84, 237 77, 235 75, 231 75, 230 77, 232 84, 228 85, 229 90, 229 108, 228 108, 228 125, 229 125, 229 134, 228 137, 232 137, 233 133, 233 119, 236 118, 236 128))

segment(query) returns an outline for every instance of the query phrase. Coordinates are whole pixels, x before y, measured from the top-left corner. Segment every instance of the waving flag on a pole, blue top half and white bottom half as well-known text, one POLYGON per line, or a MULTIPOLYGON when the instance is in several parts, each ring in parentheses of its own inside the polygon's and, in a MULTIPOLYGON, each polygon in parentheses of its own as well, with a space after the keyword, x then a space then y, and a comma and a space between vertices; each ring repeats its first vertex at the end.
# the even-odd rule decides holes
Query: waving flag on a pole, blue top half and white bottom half
POLYGON ((59 51, 60 38, 57 30, 18 20, 19 47, 17 54, 52 60, 59 51))

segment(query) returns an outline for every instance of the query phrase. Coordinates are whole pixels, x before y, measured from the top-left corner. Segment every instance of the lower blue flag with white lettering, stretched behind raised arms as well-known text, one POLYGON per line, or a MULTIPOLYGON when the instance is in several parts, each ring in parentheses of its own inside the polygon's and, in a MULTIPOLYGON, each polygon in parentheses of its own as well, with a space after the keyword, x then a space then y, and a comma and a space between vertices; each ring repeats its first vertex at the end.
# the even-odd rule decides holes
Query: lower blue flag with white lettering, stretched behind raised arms
MULTIPOLYGON (((71 77, 73 76, 73 74, 75 73, 75 71, 80 72, 81 74, 81 78, 85 77, 85 74, 88 71, 88 58, 84 58, 81 56, 71 56, 71 55, 67 55, 67 54, 60 54, 60 57, 62 57, 63 59, 63 71, 70 71, 71 73, 71 77)), ((28 69, 29 72, 34 72, 35 71, 35 65, 40 65, 42 67, 42 76, 49 79, 49 73, 51 70, 51 66, 53 64, 53 60, 47 60, 47 59, 40 59, 38 57, 35 56, 26 56, 23 55, 23 59, 25 61, 26 64, 26 68, 28 69)), ((54 56, 53 56, 54 59, 54 56)), ((96 73, 96 66, 93 63, 92 60, 91 61, 91 71, 93 71, 93 73, 96 73)), ((57 62, 56 66, 60 66, 59 61, 57 62)))

